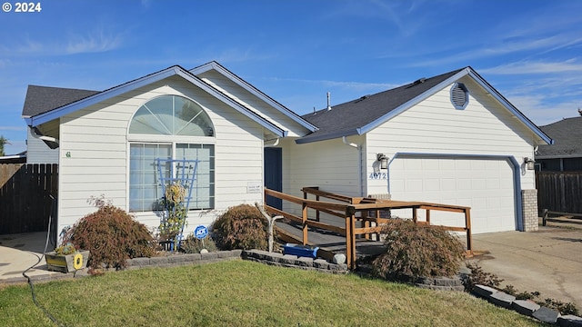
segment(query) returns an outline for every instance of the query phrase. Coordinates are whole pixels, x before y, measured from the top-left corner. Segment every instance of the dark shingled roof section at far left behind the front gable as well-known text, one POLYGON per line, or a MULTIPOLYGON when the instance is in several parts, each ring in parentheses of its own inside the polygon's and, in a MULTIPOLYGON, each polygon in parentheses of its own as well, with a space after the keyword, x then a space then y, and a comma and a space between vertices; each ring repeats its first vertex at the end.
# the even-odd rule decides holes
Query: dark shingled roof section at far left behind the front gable
POLYGON ((98 93, 99 91, 28 85, 22 115, 30 117, 44 114, 65 104, 71 104, 98 93))

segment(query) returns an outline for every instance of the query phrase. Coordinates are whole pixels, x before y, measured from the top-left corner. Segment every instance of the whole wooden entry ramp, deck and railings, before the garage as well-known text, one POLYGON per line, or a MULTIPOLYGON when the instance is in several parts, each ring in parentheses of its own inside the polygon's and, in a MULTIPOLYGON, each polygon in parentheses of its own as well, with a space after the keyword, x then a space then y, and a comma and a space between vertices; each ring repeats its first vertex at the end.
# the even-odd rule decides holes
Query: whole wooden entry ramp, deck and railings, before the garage
POLYGON ((381 243, 373 237, 382 231, 382 225, 389 223, 389 216, 383 212, 391 209, 409 209, 412 211, 412 221, 419 224, 430 224, 431 211, 462 213, 465 216, 465 226, 443 226, 448 231, 467 234, 467 253, 471 253, 471 218, 470 208, 457 205, 424 202, 404 202, 380 200, 375 198, 349 197, 319 190, 318 187, 304 187, 303 198, 290 194, 265 189, 265 199, 268 197, 281 199, 288 204, 287 212, 266 205, 265 209, 271 216, 285 218, 288 226, 276 223, 279 237, 287 243, 316 245, 320 248, 318 255, 332 260, 336 253, 346 253, 346 263, 349 269, 356 269, 356 258, 364 253, 375 253, 381 243), (315 196, 314 200, 308 195, 315 196), (325 198, 327 201, 322 201, 325 198), (293 206, 296 209, 289 210, 293 206), (418 220, 417 212, 424 210, 426 218, 418 220), (300 213, 297 214, 297 213, 300 213), (320 215, 329 216, 334 223, 320 220, 320 215), (312 238, 313 236, 313 238, 312 238))

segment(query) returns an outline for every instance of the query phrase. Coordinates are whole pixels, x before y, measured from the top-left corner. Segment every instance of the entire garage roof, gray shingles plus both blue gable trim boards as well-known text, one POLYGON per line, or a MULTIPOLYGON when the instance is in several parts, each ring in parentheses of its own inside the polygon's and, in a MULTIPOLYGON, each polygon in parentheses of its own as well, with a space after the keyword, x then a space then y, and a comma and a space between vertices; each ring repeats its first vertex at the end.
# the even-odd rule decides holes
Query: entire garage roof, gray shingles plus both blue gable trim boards
POLYGON ((421 78, 411 84, 377 94, 362 96, 345 104, 333 105, 331 110, 323 109, 312 114, 305 114, 302 117, 307 122, 316 125, 318 130, 296 140, 296 143, 306 144, 342 136, 366 134, 378 125, 384 124, 396 114, 406 111, 406 109, 437 93, 447 85, 453 84, 465 75, 472 77, 477 84, 484 87, 508 111, 516 115, 523 124, 526 124, 530 130, 547 144, 551 144, 552 140, 536 124, 532 123, 517 110, 513 104, 510 104, 503 95, 499 94, 491 84, 488 84, 470 66, 430 78, 421 78))

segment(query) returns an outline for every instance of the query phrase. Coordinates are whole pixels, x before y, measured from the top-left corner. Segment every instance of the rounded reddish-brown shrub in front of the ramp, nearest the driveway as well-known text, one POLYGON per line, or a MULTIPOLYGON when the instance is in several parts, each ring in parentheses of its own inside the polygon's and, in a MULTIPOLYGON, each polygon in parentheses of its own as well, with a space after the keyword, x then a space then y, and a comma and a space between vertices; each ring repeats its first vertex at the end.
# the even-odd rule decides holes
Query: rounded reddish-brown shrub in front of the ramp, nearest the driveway
POLYGON ((393 279, 451 277, 459 271, 465 247, 457 236, 442 227, 395 219, 383 228, 386 252, 372 263, 376 276, 393 279))

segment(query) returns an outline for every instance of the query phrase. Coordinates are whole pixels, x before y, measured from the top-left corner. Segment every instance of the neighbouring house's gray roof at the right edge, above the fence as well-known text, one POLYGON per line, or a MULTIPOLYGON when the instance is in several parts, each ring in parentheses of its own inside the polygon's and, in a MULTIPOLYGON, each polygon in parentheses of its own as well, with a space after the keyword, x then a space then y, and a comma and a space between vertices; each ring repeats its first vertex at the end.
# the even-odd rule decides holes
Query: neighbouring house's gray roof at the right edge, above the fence
POLYGON ((537 159, 582 156, 582 116, 564 118, 540 128, 554 139, 554 144, 540 145, 537 148, 537 159))

